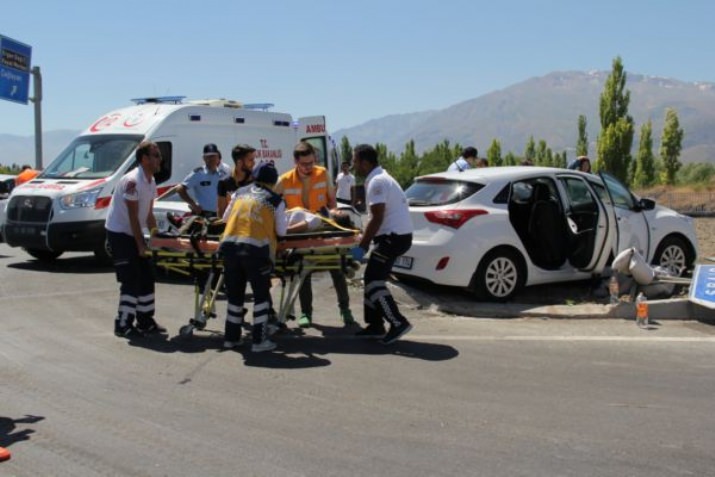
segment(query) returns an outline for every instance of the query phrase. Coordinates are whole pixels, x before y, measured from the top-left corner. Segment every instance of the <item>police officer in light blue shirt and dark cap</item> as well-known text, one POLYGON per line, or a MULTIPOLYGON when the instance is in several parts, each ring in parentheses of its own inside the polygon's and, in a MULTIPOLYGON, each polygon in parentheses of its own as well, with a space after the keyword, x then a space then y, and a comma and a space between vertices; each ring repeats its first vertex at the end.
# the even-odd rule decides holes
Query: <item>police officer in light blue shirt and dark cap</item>
POLYGON ((231 175, 231 168, 221 161, 221 152, 216 144, 206 144, 203 157, 204 165, 190 172, 176 191, 189 204, 193 214, 216 217, 218 183, 231 175))

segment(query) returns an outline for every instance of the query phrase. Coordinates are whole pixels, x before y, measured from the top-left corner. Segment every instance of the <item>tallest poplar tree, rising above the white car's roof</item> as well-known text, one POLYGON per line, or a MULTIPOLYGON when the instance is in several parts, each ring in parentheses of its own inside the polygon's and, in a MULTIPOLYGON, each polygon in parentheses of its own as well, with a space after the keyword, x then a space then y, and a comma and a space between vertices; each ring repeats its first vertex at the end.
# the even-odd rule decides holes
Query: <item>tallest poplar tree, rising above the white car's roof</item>
POLYGON ((626 73, 621 57, 613 60, 613 70, 606 79, 599 103, 601 135, 598 137, 596 170, 605 170, 628 183, 634 123, 628 114, 630 91, 625 90, 626 73))

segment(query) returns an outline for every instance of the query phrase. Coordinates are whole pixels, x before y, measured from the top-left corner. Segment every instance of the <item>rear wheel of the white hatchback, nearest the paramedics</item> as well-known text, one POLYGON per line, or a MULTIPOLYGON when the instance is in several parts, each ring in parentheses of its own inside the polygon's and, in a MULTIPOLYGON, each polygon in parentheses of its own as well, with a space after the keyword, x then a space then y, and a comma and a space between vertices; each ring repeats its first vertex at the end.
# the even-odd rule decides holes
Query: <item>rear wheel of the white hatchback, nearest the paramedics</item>
POLYGON ((526 282, 524 262, 507 248, 496 249, 482 258, 472 278, 472 290, 479 300, 504 302, 512 299, 526 282))

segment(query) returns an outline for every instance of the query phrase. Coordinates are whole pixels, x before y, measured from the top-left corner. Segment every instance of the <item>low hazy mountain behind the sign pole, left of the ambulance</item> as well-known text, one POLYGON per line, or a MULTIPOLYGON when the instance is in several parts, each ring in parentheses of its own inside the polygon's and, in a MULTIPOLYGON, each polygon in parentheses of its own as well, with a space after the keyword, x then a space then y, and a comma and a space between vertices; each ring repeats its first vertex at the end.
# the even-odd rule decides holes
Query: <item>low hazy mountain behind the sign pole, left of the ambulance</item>
MULTIPOLYGON (((79 131, 57 129, 42 134, 42 156, 47 165, 79 134, 79 131)), ((35 136, 0 134, 0 164, 28 164, 35 167, 35 136)))

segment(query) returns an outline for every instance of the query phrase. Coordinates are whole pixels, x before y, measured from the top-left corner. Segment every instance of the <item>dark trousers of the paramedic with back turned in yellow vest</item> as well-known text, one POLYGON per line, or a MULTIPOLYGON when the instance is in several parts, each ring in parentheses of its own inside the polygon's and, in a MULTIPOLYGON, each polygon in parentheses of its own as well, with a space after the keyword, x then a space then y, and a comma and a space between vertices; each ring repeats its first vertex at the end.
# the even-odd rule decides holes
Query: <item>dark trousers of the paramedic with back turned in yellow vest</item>
POLYGON ((246 298, 246 285, 253 289, 253 342, 258 344, 268 338, 267 321, 271 310, 271 270, 273 264, 267 255, 247 253, 246 246, 225 243, 223 253, 223 273, 228 307, 226 310, 226 341, 238 341, 241 338, 241 325, 246 314, 243 307, 246 298))

